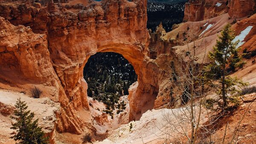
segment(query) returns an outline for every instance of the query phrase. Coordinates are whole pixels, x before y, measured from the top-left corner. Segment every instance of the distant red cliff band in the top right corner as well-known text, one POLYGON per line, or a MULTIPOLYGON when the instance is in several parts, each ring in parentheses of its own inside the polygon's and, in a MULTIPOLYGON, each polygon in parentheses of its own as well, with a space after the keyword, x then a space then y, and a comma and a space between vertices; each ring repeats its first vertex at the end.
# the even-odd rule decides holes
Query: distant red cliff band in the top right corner
POLYGON ((253 14, 255 0, 189 0, 185 4, 184 21, 201 21, 229 13, 231 18, 253 14))

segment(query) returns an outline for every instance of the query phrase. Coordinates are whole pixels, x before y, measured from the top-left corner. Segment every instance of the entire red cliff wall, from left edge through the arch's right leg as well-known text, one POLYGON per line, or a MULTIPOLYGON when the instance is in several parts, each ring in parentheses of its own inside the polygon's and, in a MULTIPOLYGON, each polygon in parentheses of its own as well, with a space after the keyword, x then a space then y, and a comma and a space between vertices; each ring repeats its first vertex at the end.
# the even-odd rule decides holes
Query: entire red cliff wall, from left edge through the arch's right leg
MULTIPOLYGON (((102 0, 86 5, 73 0, 44 5, 0 3, 0 16, 6 19, 1 18, 6 25, 1 25, 0 66, 30 84, 58 89, 59 132, 81 133, 90 128, 77 110, 88 109, 83 68, 96 52, 122 54, 134 66, 139 85, 130 97, 131 120, 153 108, 159 84, 154 80, 158 72, 151 70, 151 65, 157 65, 148 64, 146 0, 102 0)), ((9 73, 1 75, 7 79, 9 73)), ((19 83, 10 76, 7 80, 19 83)))

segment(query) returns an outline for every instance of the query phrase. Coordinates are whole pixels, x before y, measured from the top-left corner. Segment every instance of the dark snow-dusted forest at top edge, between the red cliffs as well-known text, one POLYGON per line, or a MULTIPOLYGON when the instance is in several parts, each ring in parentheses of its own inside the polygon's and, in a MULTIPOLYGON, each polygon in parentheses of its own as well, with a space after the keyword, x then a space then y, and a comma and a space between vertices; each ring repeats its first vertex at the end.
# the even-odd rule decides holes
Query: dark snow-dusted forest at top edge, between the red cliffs
POLYGON ((184 6, 187 0, 148 0, 148 29, 156 30, 162 22, 166 31, 172 30, 173 24, 182 23, 184 6))

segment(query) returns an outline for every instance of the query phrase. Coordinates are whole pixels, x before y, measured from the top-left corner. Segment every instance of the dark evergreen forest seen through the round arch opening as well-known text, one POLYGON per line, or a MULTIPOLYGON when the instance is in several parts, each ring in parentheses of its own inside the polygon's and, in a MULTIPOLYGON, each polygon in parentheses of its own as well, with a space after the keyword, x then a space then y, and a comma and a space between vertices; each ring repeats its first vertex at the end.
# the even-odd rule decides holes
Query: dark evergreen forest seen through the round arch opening
POLYGON ((97 53, 88 59, 84 79, 88 83, 88 96, 114 109, 119 97, 128 95, 128 88, 137 81, 137 75, 121 54, 107 52, 97 53))

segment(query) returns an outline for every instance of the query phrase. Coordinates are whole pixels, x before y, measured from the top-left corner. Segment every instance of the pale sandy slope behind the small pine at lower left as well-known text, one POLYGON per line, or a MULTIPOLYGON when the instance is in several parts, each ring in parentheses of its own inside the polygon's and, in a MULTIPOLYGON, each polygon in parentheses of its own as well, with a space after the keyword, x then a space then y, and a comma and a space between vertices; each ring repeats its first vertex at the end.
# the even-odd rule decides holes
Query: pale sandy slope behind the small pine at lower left
POLYGON ((15 143, 9 138, 13 136, 14 132, 10 129, 12 120, 9 116, 12 114, 15 103, 19 98, 27 103, 28 110, 35 113, 35 119, 38 119, 39 126, 43 127, 44 132, 48 136, 55 135, 55 114, 59 113, 59 103, 55 103, 49 98, 34 99, 24 93, 0 90, 0 141, 5 144, 15 143))

